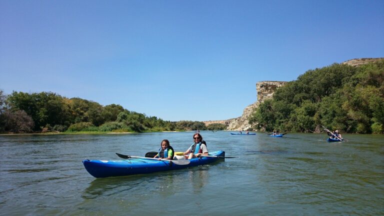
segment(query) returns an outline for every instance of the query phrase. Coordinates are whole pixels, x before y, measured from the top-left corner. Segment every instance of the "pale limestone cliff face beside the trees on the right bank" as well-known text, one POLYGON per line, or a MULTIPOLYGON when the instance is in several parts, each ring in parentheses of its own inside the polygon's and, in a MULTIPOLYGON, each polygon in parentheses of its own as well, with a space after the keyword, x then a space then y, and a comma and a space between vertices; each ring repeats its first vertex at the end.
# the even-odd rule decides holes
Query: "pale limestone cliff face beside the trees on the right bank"
POLYGON ((253 112, 253 109, 267 98, 271 98, 273 92, 280 86, 284 85, 285 81, 260 81, 256 83, 257 98, 256 101, 244 108, 240 117, 231 118, 228 120, 203 121, 205 125, 211 123, 223 123, 228 125, 227 130, 247 130, 251 127, 248 123, 248 117, 253 112))

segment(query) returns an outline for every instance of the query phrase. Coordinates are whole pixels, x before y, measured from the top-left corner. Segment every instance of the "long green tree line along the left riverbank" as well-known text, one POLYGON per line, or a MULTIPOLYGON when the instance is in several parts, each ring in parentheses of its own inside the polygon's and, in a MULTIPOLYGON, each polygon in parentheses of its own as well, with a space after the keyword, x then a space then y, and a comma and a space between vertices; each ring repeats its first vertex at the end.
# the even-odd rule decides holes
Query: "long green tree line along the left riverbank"
MULTIPOLYGON (((129 111, 118 104, 101 105, 53 92, 5 95, 0 89, 0 132, 171 131, 209 129, 201 121, 166 121, 129 111)), ((217 130, 217 128, 214 128, 217 130)))

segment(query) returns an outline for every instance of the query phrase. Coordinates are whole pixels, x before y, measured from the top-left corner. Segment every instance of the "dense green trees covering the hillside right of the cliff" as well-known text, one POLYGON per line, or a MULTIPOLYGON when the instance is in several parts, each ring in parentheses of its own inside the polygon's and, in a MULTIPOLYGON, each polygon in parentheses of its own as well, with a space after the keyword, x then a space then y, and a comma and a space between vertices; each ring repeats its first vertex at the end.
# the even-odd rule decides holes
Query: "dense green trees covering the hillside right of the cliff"
POLYGON ((319 132, 326 125, 349 133, 383 133, 384 60, 308 70, 279 87, 248 120, 267 131, 319 132))

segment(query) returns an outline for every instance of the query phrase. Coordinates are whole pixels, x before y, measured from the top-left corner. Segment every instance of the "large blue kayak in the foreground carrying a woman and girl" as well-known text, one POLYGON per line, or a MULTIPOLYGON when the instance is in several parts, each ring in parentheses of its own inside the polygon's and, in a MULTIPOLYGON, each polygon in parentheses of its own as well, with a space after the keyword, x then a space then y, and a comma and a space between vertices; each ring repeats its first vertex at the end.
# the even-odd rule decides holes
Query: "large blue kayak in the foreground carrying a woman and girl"
POLYGON ((84 167, 89 172, 89 174, 94 177, 123 176, 204 165, 223 159, 223 157, 225 156, 225 151, 213 151, 209 155, 212 156, 192 158, 189 160, 190 162, 185 165, 178 165, 170 161, 154 160, 147 158, 132 158, 125 160, 85 159, 82 161, 82 163, 84 164, 84 167))

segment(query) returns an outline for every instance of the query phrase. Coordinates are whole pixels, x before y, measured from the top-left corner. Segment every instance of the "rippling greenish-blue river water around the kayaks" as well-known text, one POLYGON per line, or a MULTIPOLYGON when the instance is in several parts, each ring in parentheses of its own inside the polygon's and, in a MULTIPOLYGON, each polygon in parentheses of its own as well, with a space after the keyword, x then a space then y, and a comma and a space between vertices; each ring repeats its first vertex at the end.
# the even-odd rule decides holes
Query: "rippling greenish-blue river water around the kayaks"
POLYGON ((193 132, 1 135, 1 215, 384 215, 384 136, 201 131, 214 164, 94 178, 88 159, 144 156, 193 132))

